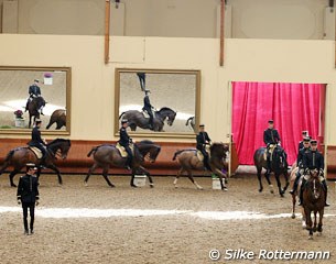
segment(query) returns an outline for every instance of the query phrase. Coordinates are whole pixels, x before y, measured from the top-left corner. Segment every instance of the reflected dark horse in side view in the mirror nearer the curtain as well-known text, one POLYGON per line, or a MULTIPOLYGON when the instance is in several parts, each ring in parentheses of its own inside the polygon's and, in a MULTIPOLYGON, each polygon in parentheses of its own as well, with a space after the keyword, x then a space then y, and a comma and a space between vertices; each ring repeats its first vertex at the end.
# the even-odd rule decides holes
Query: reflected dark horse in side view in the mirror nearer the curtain
MULTIPOLYGON (((119 116, 119 119, 121 118, 128 120, 131 131, 136 131, 137 127, 147 130, 150 129, 150 124, 149 124, 150 119, 144 117, 143 112, 140 112, 138 110, 129 110, 122 112, 119 116)), ((159 111, 154 111, 153 131, 163 131, 163 125, 165 120, 169 125, 173 125, 175 118, 176 118, 176 112, 167 107, 163 107, 159 111)))

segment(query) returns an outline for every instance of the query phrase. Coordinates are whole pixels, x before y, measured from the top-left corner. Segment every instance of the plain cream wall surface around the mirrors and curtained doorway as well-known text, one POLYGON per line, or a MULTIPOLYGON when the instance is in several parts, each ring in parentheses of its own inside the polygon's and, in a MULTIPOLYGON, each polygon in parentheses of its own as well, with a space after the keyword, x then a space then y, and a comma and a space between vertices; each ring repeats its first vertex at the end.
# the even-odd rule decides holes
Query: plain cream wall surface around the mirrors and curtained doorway
MULTIPOLYGON (((327 146, 336 145, 336 69, 333 41, 219 40, 115 36, 104 64, 102 36, 0 35, 0 64, 72 67, 72 140, 115 141, 116 67, 200 69, 200 121, 214 141, 228 142, 232 80, 323 82, 327 87, 327 146)), ((4 135, 1 139, 24 139, 4 135)), ((186 142, 187 139, 159 139, 186 142)), ((336 163, 335 163, 336 164, 336 163)))

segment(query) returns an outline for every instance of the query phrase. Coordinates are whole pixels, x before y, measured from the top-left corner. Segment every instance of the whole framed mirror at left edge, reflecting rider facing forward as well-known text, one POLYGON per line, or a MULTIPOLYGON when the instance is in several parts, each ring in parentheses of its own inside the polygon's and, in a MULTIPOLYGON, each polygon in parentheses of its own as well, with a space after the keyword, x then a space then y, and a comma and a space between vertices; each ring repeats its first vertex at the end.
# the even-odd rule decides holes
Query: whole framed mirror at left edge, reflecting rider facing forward
POLYGON ((0 133, 69 134, 69 67, 0 67, 0 133))

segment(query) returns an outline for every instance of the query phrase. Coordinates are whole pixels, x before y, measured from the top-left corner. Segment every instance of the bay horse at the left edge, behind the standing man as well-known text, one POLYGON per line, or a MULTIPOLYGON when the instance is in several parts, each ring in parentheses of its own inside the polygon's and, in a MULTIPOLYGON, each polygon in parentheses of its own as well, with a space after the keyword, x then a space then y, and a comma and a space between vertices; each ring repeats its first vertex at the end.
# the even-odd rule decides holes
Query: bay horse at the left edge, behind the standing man
POLYGON ((14 185, 13 178, 14 176, 20 173, 20 170, 25 167, 26 163, 34 163, 37 165, 37 178, 40 177, 41 174, 41 167, 40 165, 45 166, 46 168, 53 169, 58 177, 58 184, 62 185, 62 177, 59 169, 55 166, 54 162, 56 160, 56 156, 61 156, 63 160, 66 158, 67 153, 71 148, 71 141, 69 140, 64 140, 64 139, 56 139, 50 142, 46 145, 47 152, 46 156, 44 160, 44 163, 41 163, 41 160, 36 157, 36 155, 33 153, 33 151, 28 147, 28 146, 21 146, 11 150, 8 154, 7 157, 4 158, 3 165, 0 168, 0 175, 4 172, 4 169, 9 166, 13 166, 14 170, 10 173, 9 179, 10 179, 10 185, 12 187, 17 187, 14 185))

